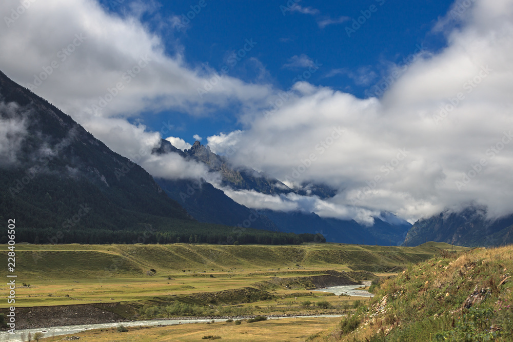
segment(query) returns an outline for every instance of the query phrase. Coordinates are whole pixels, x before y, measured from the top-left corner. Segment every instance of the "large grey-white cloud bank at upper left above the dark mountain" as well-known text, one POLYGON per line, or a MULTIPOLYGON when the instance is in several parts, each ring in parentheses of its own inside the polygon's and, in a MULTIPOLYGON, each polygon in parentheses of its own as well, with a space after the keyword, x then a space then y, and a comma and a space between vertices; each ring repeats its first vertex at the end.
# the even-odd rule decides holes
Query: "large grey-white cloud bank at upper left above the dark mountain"
MULTIPOLYGON (((7 0, 0 10, 10 13, 16 6, 17 0, 7 0)), ((144 11, 141 6, 129 7, 131 14, 119 17, 93 0, 35 2, 0 31, 0 69, 23 86, 34 84, 34 75, 42 75, 46 79, 34 92, 79 122, 89 115, 127 116, 163 109, 205 115, 232 101, 259 101, 269 94, 269 86, 225 75, 200 97, 198 89, 215 71, 189 67, 181 48, 169 54, 162 38, 137 19, 144 11), (147 59, 144 68, 142 58, 147 59), (94 113, 92 106, 101 107, 104 101, 107 106, 94 113)))

